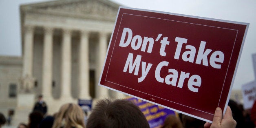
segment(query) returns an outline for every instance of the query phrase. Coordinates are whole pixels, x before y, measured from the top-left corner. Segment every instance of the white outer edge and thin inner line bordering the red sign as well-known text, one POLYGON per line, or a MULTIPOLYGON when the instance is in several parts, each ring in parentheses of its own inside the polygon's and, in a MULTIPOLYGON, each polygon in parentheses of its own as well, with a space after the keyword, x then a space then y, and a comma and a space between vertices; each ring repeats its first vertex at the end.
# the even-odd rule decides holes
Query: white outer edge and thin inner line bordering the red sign
MULTIPOLYGON (((234 83, 234 78, 235 78, 236 71, 237 71, 237 67, 238 67, 238 64, 239 64, 240 57, 241 57, 241 53, 242 53, 242 49, 243 49, 243 44, 244 44, 244 42, 245 42, 245 36, 246 36, 246 34, 247 34, 247 30, 248 30, 248 27, 249 27, 249 23, 234 22, 234 21, 227 21, 227 20, 218 20, 218 19, 212 19, 212 18, 203 18, 203 17, 191 16, 191 15, 182 15, 182 14, 168 13, 168 12, 161 12, 161 11, 152 11, 152 10, 146 10, 146 9, 135 9, 135 8, 129 8, 129 7, 119 7, 118 12, 117 12, 117 17, 118 17, 118 15, 119 15, 120 9, 132 9, 132 10, 138 10, 138 11, 149 11, 149 12, 155 12, 155 13, 164 13, 164 14, 170 14, 170 15, 184 16, 184 17, 189 17, 189 18, 199 18, 199 19, 204 19, 204 20, 213 20, 213 21, 229 22, 229 23, 234 23, 234 24, 243 24, 243 25, 246 25, 246 30, 245 30, 245 34, 244 34, 244 37, 243 37, 243 42, 242 42, 242 44, 241 44, 241 49, 240 49, 240 52, 239 52, 239 55, 238 55, 238 60, 237 60, 236 68, 235 68, 234 75, 233 75, 233 78, 232 78, 232 83, 231 83, 230 90, 229 90, 229 93, 228 93, 228 96, 227 96, 227 99, 230 98, 232 86, 233 86, 233 83, 234 83)), ((124 14, 127 14, 127 15, 134 15, 134 14, 123 13, 122 16, 123 16, 124 14)), ((143 15, 137 15, 137 16, 143 16, 143 15)), ((116 20, 115 20, 115 27, 116 27, 116 23, 117 23, 117 17, 116 17, 116 20)), ((148 17, 148 16, 144 16, 144 17, 148 17)), ((153 17, 149 17, 149 18, 153 18, 153 17)), ((161 18, 157 18, 157 19, 161 19, 161 18)), ((162 20, 168 20, 168 19, 162 19, 162 20)), ((121 21, 122 21, 122 19, 121 19, 121 21)), ((170 21, 175 21, 175 20, 170 20, 170 21)), ((181 21, 176 21, 176 22, 181 22, 181 21)), ((121 22, 120 22, 120 23, 121 23, 121 22)), ((189 22, 183 22, 183 23, 189 23, 189 22)), ((194 23, 189 23, 189 24, 194 24, 194 23)), ((196 24, 196 25, 203 25, 203 24, 196 24)), ((208 26, 208 25, 203 25, 203 26, 208 26)), ((115 30, 115 27, 114 27, 113 31, 115 30)), ((120 26, 119 26, 119 27, 120 27, 120 26)), ((210 26, 210 27, 216 27, 216 26, 210 26)), ((221 28, 221 27, 216 27, 216 28, 221 28)), ((221 28, 221 29, 227 29, 227 28, 221 28)), ((235 29, 230 29, 230 30, 237 31, 237 33, 238 33, 238 30, 235 30, 235 29)), ((118 33, 119 33, 119 28, 118 28, 117 34, 118 34, 118 33)), ((236 36, 237 36, 237 33, 236 33, 236 36)), ((112 38, 113 38, 113 33, 112 33, 111 38, 110 38, 110 43, 111 43, 112 38)), ((116 42, 116 39, 115 39, 115 42, 116 42)), ((235 38, 235 40, 234 40, 234 45, 235 45, 235 42, 236 42, 236 38, 235 38)), ((106 58, 107 58, 107 55, 108 55, 108 52, 109 52, 110 43, 109 43, 109 45, 108 45, 108 50, 107 50, 107 54, 106 54, 106 57, 105 57, 104 65, 103 65, 103 68, 102 68, 102 73, 103 73, 103 69, 104 69, 105 64, 106 64, 106 58)), ((233 54, 234 45, 233 45, 233 49, 232 49, 231 56, 232 56, 232 54, 233 54)), ((115 44, 114 44, 114 47, 115 47, 115 44)), ((113 51, 114 51, 114 49, 113 49, 113 51)), ((113 51, 112 51, 111 56, 110 56, 110 62, 111 62, 111 59, 112 59, 113 51)), ((231 56, 230 56, 230 61, 231 61, 231 56)), ((230 62, 229 62, 229 65, 230 65, 230 62)), ((229 65, 228 65, 228 67, 227 67, 227 71, 228 71, 229 65)), ((108 68, 109 68, 109 65, 108 65, 108 68)), ((99 77, 99 83, 98 83, 99 86, 104 86, 104 85, 101 85, 101 84, 100 84, 100 81, 101 81, 101 79, 102 79, 102 73, 101 73, 101 75, 100 75, 100 77, 99 77)), ((107 75, 108 75, 108 71, 107 71, 107 73, 106 73, 106 76, 107 76, 107 75)), ((227 72, 226 72, 226 75, 227 75, 227 72)), ((225 77, 225 79, 226 79, 226 77, 225 77)), ((223 87, 224 87, 225 79, 224 79, 224 82, 223 82, 223 87)), ((105 81, 107 81, 106 78, 105 78, 105 81)), ((108 81, 108 82, 110 82, 110 81, 108 81)), ((114 82, 111 82, 111 83, 117 84, 117 83, 114 83, 114 82)), ((119 84, 117 84, 117 85, 119 85, 119 84)), ((122 85, 119 85, 119 86, 122 86, 122 85)), ((116 90, 116 89, 107 87, 107 86, 104 86, 104 87, 106 87, 106 88, 108 88, 108 89, 111 89, 111 90, 115 90, 115 91, 120 92, 120 93, 124 93, 124 92, 121 92, 121 91, 119 91, 119 90, 116 90)), ((123 86, 123 87, 126 87, 126 86, 123 86)), ((128 88, 128 87, 126 87, 126 88, 128 88)), ((132 88, 130 88, 130 89, 132 89, 132 88)), ((135 90, 135 89, 132 89, 132 90, 135 90)), ((139 91, 139 90, 136 90, 136 91, 139 91)), ((222 91, 223 91, 223 88, 222 88, 222 90, 221 90, 221 95, 222 95, 222 91)), ((139 92, 141 92, 141 91, 139 91, 139 92)), ((143 92, 141 92, 141 93, 143 93, 143 92)), ((130 95, 130 94, 128 94, 128 93, 124 93, 124 94, 130 95)), ((144 93, 144 94, 147 94, 147 93, 144 93)), ((147 94, 147 95, 150 95, 150 94, 147 94)), ((220 97, 219 97, 219 102, 220 102, 220 99, 221 99, 221 95, 220 95, 220 97)), ((138 98, 138 99, 142 99, 142 98, 139 98, 139 97, 134 96, 134 95, 130 95, 130 96, 136 97, 136 98, 138 98)), ((154 95, 150 95, 150 96, 156 97, 156 96, 154 96, 154 95)), ((157 97, 157 98, 160 98, 160 97, 157 97)), ((152 98, 152 99, 153 99, 153 98, 152 98)), ((160 99, 163 99, 163 98, 160 98, 160 99)), ((152 102, 152 101, 148 101, 148 100, 146 100, 146 99, 142 99, 142 100, 147 101, 147 102, 150 102, 150 103, 152 103, 152 104, 157 104, 157 103, 154 103, 154 102, 152 102)), ((168 101, 168 102, 172 102, 172 101, 169 101, 169 100, 167 100, 167 99, 164 99, 164 100, 166 100, 166 101, 168 101)), ((172 102, 172 103, 175 103, 175 102, 172 102)), ((179 104, 179 103, 175 103, 175 104, 179 104)), ((224 115, 225 110, 226 110, 226 108, 227 108, 227 104, 228 104, 228 100, 226 101, 226 104, 225 104, 225 107, 224 107, 224 111, 223 111, 223 115, 224 115)), ((168 109, 177 111, 177 112, 179 112, 179 113, 183 113, 183 114, 185 114, 185 115, 189 115, 189 116, 191 116, 191 117, 195 117, 195 118, 197 118, 197 119, 201 119, 201 120, 203 120, 203 121, 207 121, 207 122, 212 123, 212 121, 210 121, 210 120, 207 120, 207 119, 204 119, 204 118, 201 118, 201 117, 197 117, 197 116, 195 116, 195 115, 191 115, 191 114, 188 114, 188 113, 184 113, 184 112, 181 112, 181 111, 179 111, 179 110, 176 110, 176 109, 173 109, 173 108, 169 108, 169 107, 167 107, 167 106, 163 106, 163 105, 161 105, 161 104, 157 104, 157 105, 162 106, 162 107, 164 107, 164 108, 168 108, 168 109)), ((179 104, 179 105, 182 105, 182 104, 179 104)), ((218 105, 219 105, 219 103, 218 103, 218 105)), ((185 106, 185 105, 182 105, 182 106, 185 106)), ((185 107, 192 108, 192 107, 189 107, 189 106, 185 106, 185 107)), ((196 108, 192 108, 192 109, 198 110, 198 109, 196 109, 196 108)), ((199 111, 204 112, 204 111, 202 111, 202 110, 199 110, 199 111)), ((204 112, 204 113, 207 113, 207 112, 204 112)), ((214 115, 214 114, 212 114, 212 113, 207 113, 207 114, 214 115)))

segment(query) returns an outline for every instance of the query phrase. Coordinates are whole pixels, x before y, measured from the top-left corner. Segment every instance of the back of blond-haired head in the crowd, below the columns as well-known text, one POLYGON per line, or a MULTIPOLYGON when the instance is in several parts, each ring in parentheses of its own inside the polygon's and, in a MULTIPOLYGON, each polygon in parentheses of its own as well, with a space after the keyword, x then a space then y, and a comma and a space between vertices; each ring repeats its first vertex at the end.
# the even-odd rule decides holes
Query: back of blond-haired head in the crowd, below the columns
POLYGON ((57 113, 53 128, 85 128, 84 112, 77 104, 64 104, 57 113))

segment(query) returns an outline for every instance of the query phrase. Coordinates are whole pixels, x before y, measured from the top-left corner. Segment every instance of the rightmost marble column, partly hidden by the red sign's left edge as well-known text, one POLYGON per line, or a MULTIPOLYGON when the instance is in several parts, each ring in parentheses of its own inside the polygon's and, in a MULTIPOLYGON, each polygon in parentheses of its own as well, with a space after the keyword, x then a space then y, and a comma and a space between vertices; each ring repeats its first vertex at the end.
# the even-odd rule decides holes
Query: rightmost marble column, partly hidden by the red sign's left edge
POLYGON ((107 51, 107 33, 100 32, 99 33, 99 49, 98 49, 98 64, 96 69, 96 97, 97 98, 104 98, 108 97, 108 89, 102 86, 98 86, 99 77, 102 72, 102 67, 106 57, 107 51))

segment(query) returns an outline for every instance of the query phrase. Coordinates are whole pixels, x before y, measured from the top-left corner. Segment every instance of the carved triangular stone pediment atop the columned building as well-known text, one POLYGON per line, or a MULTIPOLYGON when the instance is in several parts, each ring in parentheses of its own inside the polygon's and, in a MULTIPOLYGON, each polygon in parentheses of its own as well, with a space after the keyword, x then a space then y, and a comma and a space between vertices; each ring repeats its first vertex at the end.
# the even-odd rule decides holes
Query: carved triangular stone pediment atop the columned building
POLYGON ((21 11, 114 21, 119 4, 109 0, 57 0, 21 6, 21 11))

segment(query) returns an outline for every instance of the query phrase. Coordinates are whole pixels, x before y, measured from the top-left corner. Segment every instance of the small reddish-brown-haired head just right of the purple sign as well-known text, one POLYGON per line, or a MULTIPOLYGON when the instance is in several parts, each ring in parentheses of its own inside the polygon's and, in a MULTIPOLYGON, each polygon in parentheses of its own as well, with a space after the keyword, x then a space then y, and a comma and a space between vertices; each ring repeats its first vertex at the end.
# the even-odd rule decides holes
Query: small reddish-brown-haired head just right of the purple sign
POLYGON ((161 128, 183 128, 181 119, 175 115, 169 115, 163 122, 161 128))

